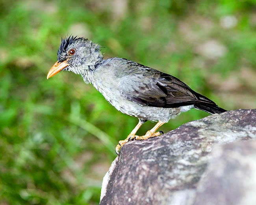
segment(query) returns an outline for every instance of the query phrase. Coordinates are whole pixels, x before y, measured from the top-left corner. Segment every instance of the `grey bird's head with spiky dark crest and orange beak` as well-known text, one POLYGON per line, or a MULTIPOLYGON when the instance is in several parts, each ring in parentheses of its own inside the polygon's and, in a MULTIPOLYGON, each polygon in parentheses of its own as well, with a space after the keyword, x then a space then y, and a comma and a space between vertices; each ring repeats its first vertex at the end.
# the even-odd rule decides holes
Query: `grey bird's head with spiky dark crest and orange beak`
POLYGON ((68 70, 76 74, 85 75, 88 70, 94 69, 95 65, 103 59, 98 44, 85 38, 69 36, 61 39, 61 44, 57 52, 57 62, 52 66, 47 74, 47 79, 51 78, 61 70, 68 70))

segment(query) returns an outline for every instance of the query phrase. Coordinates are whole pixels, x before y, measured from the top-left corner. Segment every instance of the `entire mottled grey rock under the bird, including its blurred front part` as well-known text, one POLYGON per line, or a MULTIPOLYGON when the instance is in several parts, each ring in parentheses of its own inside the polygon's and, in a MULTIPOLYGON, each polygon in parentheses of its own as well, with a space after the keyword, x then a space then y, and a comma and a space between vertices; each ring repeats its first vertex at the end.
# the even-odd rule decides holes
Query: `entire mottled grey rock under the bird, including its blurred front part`
POLYGON ((256 109, 240 109, 126 143, 100 205, 255 205, 255 193, 256 109))

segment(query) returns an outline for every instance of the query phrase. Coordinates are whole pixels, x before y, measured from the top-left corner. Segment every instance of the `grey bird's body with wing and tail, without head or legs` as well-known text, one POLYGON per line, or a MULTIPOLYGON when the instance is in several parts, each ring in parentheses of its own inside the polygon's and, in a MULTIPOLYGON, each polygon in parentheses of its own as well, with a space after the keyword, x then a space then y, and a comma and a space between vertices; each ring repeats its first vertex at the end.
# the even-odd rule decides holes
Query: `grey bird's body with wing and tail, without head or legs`
POLYGON ((193 91, 178 78, 128 59, 105 60, 93 71, 92 79, 91 83, 106 100, 128 115, 154 115, 155 119, 160 112, 165 112, 165 116, 161 114, 163 118, 173 111, 179 114, 180 107, 191 109, 194 105, 211 114, 218 112, 213 101, 193 91))

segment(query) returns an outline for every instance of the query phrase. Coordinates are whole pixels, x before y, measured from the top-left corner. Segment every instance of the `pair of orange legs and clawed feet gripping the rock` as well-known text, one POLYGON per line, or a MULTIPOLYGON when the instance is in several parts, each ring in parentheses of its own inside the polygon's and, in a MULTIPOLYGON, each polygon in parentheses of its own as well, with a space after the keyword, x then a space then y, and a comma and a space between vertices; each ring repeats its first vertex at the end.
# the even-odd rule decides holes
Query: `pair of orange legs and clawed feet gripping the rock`
POLYGON ((156 132, 156 130, 161 127, 164 124, 164 122, 159 121, 152 129, 148 130, 147 133, 143 136, 137 136, 135 135, 136 132, 138 131, 139 127, 141 127, 142 123, 138 123, 137 126, 132 130, 132 132, 130 133, 130 135, 128 135, 128 137, 125 140, 120 140, 119 144, 115 147, 115 152, 117 154, 119 154, 119 149, 129 140, 131 139, 136 139, 136 140, 145 140, 148 139, 150 137, 156 137, 161 135, 163 132, 159 131, 156 132))

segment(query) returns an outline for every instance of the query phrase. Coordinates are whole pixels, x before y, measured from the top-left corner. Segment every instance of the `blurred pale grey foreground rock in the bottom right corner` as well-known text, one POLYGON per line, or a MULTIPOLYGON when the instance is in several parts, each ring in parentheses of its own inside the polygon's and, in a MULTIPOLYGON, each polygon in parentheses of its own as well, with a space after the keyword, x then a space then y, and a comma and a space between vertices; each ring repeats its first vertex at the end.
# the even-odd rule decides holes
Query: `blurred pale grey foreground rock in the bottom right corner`
POLYGON ((256 141, 217 145, 193 205, 256 204, 256 141))

